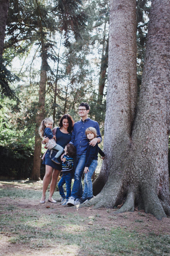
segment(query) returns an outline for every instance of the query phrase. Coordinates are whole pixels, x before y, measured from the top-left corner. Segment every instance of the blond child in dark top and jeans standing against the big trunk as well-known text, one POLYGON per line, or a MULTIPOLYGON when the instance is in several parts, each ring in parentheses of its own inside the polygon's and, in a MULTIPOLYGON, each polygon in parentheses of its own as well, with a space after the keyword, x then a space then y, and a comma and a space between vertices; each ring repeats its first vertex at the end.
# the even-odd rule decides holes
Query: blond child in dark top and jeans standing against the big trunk
MULTIPOLYGON (((85 130, 85 134, 89 141, 93 140, 97 137, 97 131, 93 127, 88 127, 85 130)), ((88 144, 87 146, 87 153, 86 153, 86 162, 85 162, 85 176, 84 176, 84 191, 82 195, 82 200, 80 204, 84 203, 87 200, 90 200, 93 198, 93 186, 91 181, 91 176, 93 175, 94 171, 97 167, 97 155, 98 152, 100 155, 102 155, 102 159, 104 159, 104 152, 99 148, 98 144, 95 146, 91 146, 88 144)))

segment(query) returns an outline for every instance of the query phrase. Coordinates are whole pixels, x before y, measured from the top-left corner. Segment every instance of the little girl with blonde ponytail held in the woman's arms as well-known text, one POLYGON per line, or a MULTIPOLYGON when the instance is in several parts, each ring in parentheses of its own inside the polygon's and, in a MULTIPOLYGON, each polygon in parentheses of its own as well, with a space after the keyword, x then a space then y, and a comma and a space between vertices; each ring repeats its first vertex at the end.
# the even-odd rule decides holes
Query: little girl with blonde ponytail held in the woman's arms
POLYGON ((49 138, 48 143, 45 144, 45 148, 56 149, 58 152, 53 159, 54 163, 60 164, 57 158, 63 153, 63 147, 56 143, 56 136, 52 132, 53 120, 51 118, 45 118, 39 127, 39 134, 42 138, 45 136, 49 138))

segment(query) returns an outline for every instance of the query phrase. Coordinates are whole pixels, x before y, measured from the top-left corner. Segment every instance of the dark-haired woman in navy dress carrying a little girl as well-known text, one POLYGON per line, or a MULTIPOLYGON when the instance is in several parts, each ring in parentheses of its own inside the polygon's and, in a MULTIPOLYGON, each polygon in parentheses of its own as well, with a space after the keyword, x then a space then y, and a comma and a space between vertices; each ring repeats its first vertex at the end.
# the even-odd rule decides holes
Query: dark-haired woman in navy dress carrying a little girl
MULTIPOLYGON (((65 148, 65 146, 71 140, 71 133, 73 130, 74 121, 73 118, 66 114, 63 115, 59 122, 59 127, 53 129, 53 134, 56 135, 57 144, 65 148)), ((49 138, 44 138, 42 143, 46 144, 49 138)), ((41 204, 45 203, 45 193, 48 188, 51 176, 51 182, 49 187, 49 197, 48 201, 51 203, 57 203, 56 200, 53 199, 53 193, 56 189, 57 180, 62 170, 62 165, 58 165, 54 163, 51 159, 56 155, 56 151, 54 149, 47 150, 45 155, 43 155, 43 164, 45 164, 45 176, 43 177, 43 192, 42 198, 40 200, 41 204)))

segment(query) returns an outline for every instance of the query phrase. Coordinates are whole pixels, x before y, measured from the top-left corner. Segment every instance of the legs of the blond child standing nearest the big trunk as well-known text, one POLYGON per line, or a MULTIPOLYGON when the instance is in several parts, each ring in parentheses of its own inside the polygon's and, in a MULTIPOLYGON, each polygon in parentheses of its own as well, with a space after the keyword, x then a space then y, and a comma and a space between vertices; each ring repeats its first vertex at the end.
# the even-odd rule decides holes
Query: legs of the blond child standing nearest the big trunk
POLYGON ((87 198, 91 198, 93 196, 93 185, 91 181, 91 176, 93 175, 94 171, 96 170, 97 167, 97 160, 93 160, 91 162, 90 167, 88 168, 89 172, 86 174, 86 182, 87 182, 87 198))

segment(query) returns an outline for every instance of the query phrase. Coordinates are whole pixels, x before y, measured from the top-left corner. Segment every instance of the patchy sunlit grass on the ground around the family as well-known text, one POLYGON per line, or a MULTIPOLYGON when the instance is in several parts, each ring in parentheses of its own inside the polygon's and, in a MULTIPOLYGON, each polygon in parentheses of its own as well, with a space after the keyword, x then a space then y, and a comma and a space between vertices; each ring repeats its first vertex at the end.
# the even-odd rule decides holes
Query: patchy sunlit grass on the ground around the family
MULTIPOLYGON (((59 193, 55 193, 59 197, 59 193)), ((38 190, 19 187, 0 189, 0 198, 39 200, 40 196, 38 190)), ((125 214, 122 216, 127 218, 125 214)), ((56 255, 169 255, 168 236, 157 236, 153 232, 146 236, 129 231, 126 226, 108 228, 99 224, 100 218, 100 214, 88 217, 82 217, 79 212, 61 214, 52 206, 40 212, 17 204, 1 204, 0 237, 8 237, 8 243, 16 245, 15 248, 23 248, 23 251, 29 248, 32 255, 34 250, 40 251, 40 254, 42 250, 47 250, 49 255, 54 252, 56 255)), ((108 217, 113 221, 116 218, 108 217)), ((138 219, 134 221, 142 222, 138 219)))

